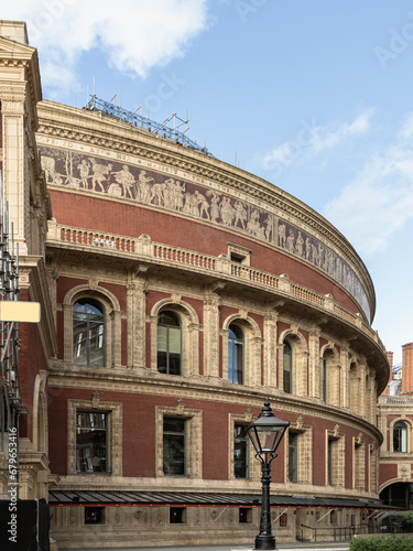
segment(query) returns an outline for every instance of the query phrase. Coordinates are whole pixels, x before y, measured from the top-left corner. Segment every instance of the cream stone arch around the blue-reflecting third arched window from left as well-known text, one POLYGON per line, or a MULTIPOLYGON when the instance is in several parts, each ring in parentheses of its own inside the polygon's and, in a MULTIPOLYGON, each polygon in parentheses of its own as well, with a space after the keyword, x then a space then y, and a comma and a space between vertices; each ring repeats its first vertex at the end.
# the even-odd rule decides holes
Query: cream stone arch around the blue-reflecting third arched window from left
POLYGON ((239 312, 229 315, 222 323, 222 380, 228 381, 228 339, 230 325, 237 325, 244 336, 243 385, 248 387, 261 385, 261 329, 252 317, 239 312))

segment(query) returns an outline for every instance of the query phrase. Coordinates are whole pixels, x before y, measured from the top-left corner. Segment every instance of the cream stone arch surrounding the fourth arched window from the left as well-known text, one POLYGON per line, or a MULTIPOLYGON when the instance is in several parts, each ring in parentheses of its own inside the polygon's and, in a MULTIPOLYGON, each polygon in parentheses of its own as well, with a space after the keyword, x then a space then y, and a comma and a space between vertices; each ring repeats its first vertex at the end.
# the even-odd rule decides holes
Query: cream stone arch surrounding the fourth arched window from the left
POLYGON ((279 387, 284 390, 284 342, 292 348, 292 393, 308 396, 308 343, 296 327, 289 327, 279 336, 279 387))

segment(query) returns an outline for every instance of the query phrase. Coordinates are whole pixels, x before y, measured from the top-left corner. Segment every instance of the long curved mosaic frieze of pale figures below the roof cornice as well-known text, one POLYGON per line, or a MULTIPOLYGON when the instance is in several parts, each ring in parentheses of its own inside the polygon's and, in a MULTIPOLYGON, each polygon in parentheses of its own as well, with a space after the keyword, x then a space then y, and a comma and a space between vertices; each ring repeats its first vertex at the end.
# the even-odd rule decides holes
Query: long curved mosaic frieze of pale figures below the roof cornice
POLYGON ((175 177, 117 161, 109 163, 105 159, 86 158, 81 153, 47 147, 41 147, 40 152, 47 183, 185 213, 278 245, 337 280, 370 316, 369 302, 360 280, 337 253, 285 220, 275 224, 274 216, 259 207, 215 190, 205 190, 196 183, 180 182, 175 177))

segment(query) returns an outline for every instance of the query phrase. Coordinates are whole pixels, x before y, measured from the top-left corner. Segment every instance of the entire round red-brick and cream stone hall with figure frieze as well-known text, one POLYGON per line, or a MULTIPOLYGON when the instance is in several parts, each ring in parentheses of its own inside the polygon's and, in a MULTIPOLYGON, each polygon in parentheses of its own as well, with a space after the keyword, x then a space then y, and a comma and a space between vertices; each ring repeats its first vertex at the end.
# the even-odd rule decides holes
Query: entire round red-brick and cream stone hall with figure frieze
POLYGON ((42 306, 21 324, 20 491, 48 501, 55 548, 251 543, 267 398, 290 422, 276 540, 367 531, 389 364, 355 249, 177 134, 43 100, 24 24, 0 30, 4 193, 42 306))

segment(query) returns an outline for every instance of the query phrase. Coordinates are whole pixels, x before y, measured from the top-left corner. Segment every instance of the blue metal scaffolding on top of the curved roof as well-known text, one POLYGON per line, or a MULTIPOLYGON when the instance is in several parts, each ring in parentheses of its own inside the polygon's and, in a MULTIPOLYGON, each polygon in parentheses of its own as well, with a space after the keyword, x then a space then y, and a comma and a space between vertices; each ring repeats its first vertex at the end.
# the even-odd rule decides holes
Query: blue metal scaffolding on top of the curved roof
POLYGON ((138 107, 138 109, 135 109, 133 112, 128 111, 122 107, 116 106, 115 104, 112 104, 115 97, 116 96, 113 96, 110 101, 104 101, 96 95, 93 95, 90 96, 90 99, 87 102, 85 109, 105 114, 115 119, 128 122, 128 125, 143 128, 148 132, 154 133, 161 138, 164 138, 165 140, 172 141, 174 143, 180 143, 181 145, 198 151, 199 153, 213 156, 205 147, 203 148, 198 145, 196 141, 191 140, 186 136, 186 132, 189 130, 187 126, 187 123, 189 122, 188 120, 181 119, 174 112, 172 117, 165 119, 160 123, 146 117, 143 117, 142 115, 139 115, 138 111, 142 106, 138 107), (167 126, 171 121, 173 121, 173 128, 167 126), (186 129, 184 131, 180 130, 180 128, 183 126, 186 126, 186 129))

